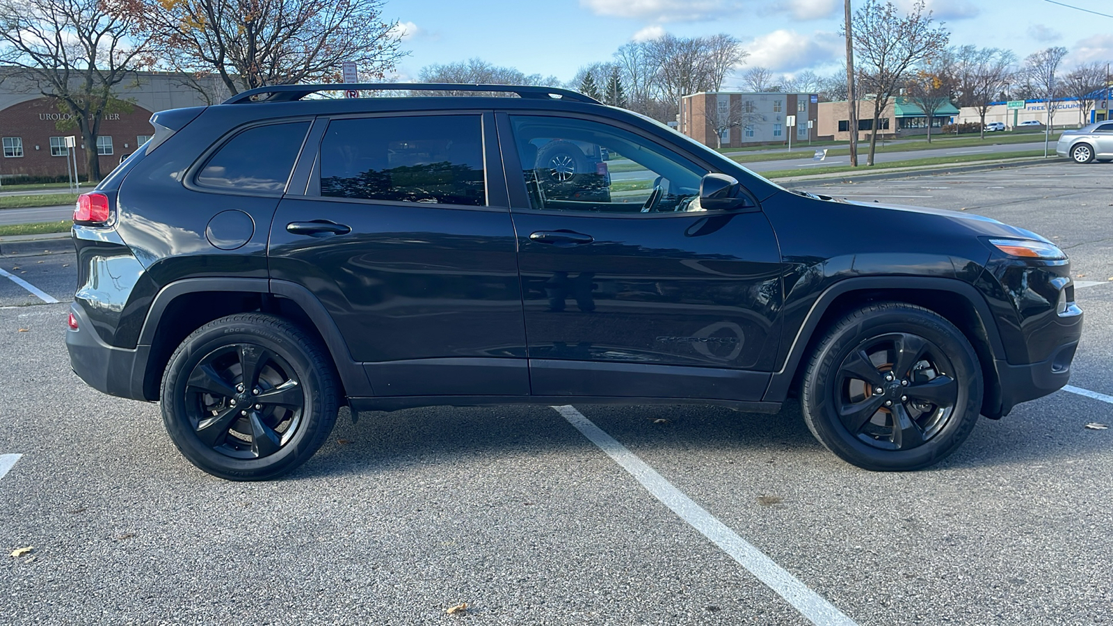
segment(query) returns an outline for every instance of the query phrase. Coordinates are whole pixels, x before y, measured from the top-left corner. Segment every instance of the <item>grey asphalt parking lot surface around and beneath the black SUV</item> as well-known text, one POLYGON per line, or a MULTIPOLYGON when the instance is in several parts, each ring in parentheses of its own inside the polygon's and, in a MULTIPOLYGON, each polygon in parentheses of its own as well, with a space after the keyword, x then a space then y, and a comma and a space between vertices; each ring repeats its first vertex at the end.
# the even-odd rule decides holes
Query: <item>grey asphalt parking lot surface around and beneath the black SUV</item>
POLYGON ((157 404, 69 371, 73 255, 0 255, 47 296, 0 275, 0 623, 1113 624, 1113 431, 1087 428, 1113 426, 1111 174, 794 185, 965 209, 1072 256, 1075 391, 910 473, 839 461, 791 404, 578 405, 345 413, 289 477, 226 482, 157 404))

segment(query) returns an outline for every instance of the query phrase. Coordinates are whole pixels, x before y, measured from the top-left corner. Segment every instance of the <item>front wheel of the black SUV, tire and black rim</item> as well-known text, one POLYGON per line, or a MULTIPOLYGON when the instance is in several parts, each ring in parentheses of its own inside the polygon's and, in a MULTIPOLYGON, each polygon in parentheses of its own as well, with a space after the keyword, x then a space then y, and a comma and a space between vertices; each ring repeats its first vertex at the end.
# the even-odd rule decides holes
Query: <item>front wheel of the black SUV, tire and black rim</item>
POLYGON ((969 436, 982 409, 981 379, 977 354, 954 324, 920 306, 876 303, 824 335, 800 404, 811 433, 843 460, 916 470, 969 436), (913 355, 900 356, 902 349, 913 355))

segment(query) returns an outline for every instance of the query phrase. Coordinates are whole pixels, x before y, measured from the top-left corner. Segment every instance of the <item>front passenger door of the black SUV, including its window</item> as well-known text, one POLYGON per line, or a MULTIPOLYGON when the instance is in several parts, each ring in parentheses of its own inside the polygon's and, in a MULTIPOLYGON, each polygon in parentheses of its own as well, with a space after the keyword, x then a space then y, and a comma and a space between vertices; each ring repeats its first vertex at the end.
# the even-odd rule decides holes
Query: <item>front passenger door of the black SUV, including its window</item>
POLYGON ((782 301, 760 208, 702 209, 708 169, 634 128, 500 121, 533 393, 759 400, 782 301))

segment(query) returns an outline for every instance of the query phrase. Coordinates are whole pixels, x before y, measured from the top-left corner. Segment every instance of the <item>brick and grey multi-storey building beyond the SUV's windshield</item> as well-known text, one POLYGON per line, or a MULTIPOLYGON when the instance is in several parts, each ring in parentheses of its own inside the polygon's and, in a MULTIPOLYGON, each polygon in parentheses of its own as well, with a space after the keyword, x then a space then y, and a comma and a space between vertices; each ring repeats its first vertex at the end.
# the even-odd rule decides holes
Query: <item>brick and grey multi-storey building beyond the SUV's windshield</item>
POLYGON ((712 148, 807 141, 815 138, 818 97, 814 94, 716 91, 680 98, 679 130, 712 148), (796 117, 789 127, 787 118, 796 117))

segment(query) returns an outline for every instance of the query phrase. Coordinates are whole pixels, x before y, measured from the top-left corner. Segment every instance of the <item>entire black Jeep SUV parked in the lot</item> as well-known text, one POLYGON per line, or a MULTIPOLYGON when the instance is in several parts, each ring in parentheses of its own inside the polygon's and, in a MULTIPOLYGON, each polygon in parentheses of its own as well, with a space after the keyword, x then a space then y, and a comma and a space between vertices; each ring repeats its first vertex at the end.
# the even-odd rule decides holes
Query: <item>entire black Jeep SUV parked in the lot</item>
POLYGON ((843 459, 923 468, 1065 384, 1082 331, 1040 235, 790 192, 572 91, 282 86, 151 124, 78 203, 67 344, 227 479, 297 467, 345 403, 790 393, 843 459))

